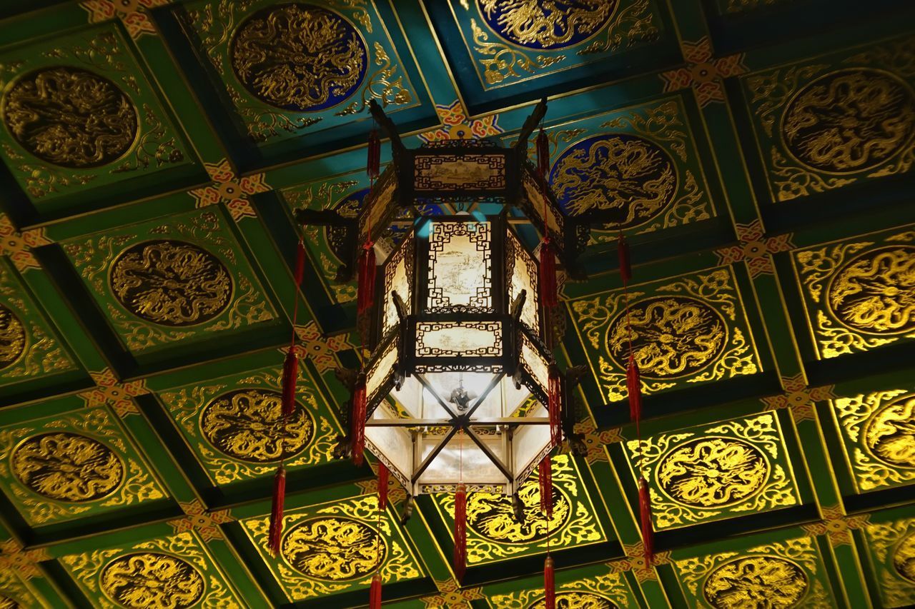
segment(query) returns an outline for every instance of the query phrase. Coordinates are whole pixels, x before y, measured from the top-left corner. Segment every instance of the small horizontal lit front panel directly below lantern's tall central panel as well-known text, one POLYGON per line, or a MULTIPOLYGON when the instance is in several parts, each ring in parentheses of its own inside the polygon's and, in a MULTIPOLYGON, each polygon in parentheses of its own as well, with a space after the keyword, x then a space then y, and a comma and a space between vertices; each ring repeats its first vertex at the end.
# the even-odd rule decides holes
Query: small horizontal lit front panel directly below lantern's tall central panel
POLYGON ((419 322, 416 357, 500 357, 501 322, 419 322))

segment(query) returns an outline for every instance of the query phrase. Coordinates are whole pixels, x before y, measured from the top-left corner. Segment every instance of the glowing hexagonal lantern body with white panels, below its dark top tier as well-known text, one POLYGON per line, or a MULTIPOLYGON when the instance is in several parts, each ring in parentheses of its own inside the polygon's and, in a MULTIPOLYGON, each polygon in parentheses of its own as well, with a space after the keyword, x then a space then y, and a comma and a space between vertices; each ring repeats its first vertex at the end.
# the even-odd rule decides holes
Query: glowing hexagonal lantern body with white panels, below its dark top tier
POLYGON ((533 256, 502 218, 421 218, 382 276, 366 445, 413 494, 459 480, 512 492, 549 443, 550 356, 539 340, 533 256), (515 326, 511 303, 522 290, 515 326), (472 438, 456 433, 467 418, 472 438))

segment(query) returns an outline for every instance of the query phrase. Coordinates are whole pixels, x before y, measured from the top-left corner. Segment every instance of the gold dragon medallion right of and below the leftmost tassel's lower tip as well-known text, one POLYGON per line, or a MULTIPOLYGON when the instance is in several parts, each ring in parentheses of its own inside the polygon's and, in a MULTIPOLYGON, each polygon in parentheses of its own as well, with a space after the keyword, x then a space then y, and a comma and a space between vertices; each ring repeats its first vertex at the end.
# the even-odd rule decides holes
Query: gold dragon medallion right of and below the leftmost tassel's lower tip
POLYGON ((296 571, 325 582, 365 577, 384 562, 387 551, 378 530, 340 516, 300 522, 282 544, 283 557, 296 571))

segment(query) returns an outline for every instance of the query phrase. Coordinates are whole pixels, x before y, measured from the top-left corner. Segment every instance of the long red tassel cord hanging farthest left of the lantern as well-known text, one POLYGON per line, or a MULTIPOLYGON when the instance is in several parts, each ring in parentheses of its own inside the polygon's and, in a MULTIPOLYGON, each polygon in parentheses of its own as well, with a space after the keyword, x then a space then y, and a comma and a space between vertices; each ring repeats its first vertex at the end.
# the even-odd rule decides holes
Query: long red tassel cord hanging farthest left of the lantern
POLYGON ((280 466, 274 475, 274 495, 270 507, 270 529, 267 532, 267 550, 272 556, 280 551, 280 541, 283 538, 283 511, 285 508, 285 439, 286 423, 296 411, 296 381, 298 379, 298 353, 296 348, 296 324, 298 322, 298 293, 302 287, 302 278, 305 276, 305 244, 298 240, 296 248, 296 270, 293 279, 296 283, 296 304, 292 314, 292 337, 289 338, 289 351, 283 360, 282 381, 282 406, 280 416, 283 420, 282 451, 280 466))

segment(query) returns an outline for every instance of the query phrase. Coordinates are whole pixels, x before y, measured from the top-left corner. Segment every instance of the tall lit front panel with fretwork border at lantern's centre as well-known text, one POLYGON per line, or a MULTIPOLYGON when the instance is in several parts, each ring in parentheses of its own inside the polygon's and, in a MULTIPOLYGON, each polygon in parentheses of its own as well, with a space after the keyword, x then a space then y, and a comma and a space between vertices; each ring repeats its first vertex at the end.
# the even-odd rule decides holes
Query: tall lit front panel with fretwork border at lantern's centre
POLYGON ((489 222, 429 223, 426 309, 492 309, 492 230, 489 222))

